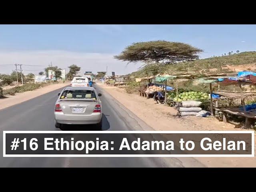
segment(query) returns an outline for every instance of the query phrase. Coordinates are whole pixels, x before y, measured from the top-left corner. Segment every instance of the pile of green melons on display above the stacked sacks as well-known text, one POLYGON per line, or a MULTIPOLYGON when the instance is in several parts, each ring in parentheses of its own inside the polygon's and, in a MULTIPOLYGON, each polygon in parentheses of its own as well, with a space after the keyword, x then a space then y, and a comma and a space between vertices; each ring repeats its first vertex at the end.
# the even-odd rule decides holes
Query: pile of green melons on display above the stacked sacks
MULTIPOLYGON (((203 92, 182 92, 178 94, 178 102, 194 100, 194 101, 203 101, 209 98, 208 93, 203 92)), ((168 94, 168 99, 177 101, 177 97, 175 93, 168 94)))

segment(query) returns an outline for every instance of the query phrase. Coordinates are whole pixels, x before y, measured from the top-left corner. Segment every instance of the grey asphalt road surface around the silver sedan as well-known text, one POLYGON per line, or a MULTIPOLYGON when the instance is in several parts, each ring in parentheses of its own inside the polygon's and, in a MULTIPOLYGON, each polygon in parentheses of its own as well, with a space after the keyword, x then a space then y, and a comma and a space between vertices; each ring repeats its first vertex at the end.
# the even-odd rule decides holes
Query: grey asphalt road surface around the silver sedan
MULTIPOLYGON (((93 84, 102 93, 103 130, 152 130, 122 104, 93 84)), ((0 110, 0 154, 3 130, 59 130, 54 127, 55 90, 34 99, 0 110)), ((94 126, 66 125, 62 130, 94 130, 94 126)), ((61 130, 60 130, 61 131, 61 130)), ((90 158, 90 157, 2 157, 0 167, 184 167, 203 166, 194 158, 90 158)))

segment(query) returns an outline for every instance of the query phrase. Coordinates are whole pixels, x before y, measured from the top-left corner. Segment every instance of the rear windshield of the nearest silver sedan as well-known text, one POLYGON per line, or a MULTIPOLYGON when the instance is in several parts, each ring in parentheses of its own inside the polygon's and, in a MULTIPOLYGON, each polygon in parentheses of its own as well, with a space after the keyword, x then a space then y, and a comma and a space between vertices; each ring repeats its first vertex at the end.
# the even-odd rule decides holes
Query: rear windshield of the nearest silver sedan
POLYGON ((92 90, 65 90, 60 96, 61 99, 96 99, 92 90))

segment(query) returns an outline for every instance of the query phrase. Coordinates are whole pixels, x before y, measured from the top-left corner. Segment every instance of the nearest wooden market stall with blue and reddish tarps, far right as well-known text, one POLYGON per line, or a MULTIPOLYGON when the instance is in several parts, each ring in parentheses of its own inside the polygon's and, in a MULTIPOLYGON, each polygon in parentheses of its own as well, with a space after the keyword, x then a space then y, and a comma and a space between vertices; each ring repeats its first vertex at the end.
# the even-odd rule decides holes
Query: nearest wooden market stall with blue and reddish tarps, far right
POLYGON ((218 76, 201 78, 197 80, 200 83, 209 84, 210 87, 210 108, 211 114, 215 111, 223 113, 223 121, 227 122, 227 113, 236 116, 245 117, 245 126, 249 127, 252 119, 256 119, 256 103, 250 105, 245 104, 245 98, 255 98, 256 92, 244 92, 243 85, 256 85, 256 73, 242 71, 238 72, 236 76, 218 76), (212 90, 212 84, 218 84, 218 90, 212 90), (221 86, 234 85, 239 86, 240 92, 220 90, 221 86), (238 107, 220 107, 218 101, 220 100, 240 100, 240 106, 238 107))

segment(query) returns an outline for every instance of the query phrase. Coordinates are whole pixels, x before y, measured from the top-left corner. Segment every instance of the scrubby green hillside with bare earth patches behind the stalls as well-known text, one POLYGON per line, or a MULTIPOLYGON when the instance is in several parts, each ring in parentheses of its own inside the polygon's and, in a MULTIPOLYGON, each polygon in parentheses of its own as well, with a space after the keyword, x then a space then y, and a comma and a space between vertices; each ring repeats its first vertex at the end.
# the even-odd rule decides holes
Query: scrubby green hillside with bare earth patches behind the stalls
MULTIPOLYGON (((190 62, 179 62, 177 64, 168 64, 163 68, 158 69, 158 72, 168 74, 210 74, 219 72, 238 72, 242 70, 256 70, 256 51, 241 52, 230 56, 218 56, 190 62)), ((143 77, 146 76, 146 73, 144 70, 138 70, 129 75, 143 77)))

